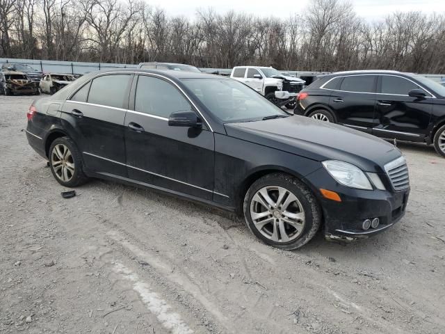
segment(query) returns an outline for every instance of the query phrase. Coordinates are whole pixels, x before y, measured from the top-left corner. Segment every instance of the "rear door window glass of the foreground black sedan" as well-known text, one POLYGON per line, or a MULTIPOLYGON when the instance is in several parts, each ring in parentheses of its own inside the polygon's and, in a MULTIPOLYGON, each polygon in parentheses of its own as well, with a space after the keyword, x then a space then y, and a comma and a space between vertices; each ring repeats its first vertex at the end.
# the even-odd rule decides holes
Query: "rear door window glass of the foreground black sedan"
POLYGON ((130 74, 113 74, 93 79, 88 103, 122 108, 130 77, 130 74))

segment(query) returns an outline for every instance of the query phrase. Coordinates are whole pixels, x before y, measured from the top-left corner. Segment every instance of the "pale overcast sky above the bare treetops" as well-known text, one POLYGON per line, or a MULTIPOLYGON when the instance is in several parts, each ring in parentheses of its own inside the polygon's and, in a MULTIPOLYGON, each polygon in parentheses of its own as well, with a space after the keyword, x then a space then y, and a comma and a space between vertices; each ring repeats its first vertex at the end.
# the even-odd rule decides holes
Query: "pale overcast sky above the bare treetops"
MULTIPOLYGON (((301 13, 309 0, 147 0, 152 6, 164 8, 168 15, 194 17, 197 8, 214 8, 218 13, 236 10, 262 17, 289 17, 301 13)), ((445 13, 445 0, 351 0, 356 13, 370 21, 395 11, 419 10, 423 13, 445 13)))

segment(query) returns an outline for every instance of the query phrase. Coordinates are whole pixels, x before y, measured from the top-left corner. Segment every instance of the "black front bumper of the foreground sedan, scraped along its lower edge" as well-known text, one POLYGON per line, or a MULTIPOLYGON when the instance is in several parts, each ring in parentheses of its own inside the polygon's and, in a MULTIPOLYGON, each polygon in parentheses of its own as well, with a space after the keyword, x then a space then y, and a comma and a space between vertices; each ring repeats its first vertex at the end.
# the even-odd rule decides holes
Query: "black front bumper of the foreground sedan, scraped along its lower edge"
POLYGON ((386 191, 352 189, 338 184, 324 168, 312 173, 307 179, 316 187, 314 191, 321 202, 324 233, 328 240, 366 239, 388 230, 405 215, 410 189, 394 191, 389 184, 385 184, 386 191), (324 198, 319 189, 335 191, 341 202, 324 198), (379 218, 378 227, 363 230, 363 221, 373 218, 379 218))

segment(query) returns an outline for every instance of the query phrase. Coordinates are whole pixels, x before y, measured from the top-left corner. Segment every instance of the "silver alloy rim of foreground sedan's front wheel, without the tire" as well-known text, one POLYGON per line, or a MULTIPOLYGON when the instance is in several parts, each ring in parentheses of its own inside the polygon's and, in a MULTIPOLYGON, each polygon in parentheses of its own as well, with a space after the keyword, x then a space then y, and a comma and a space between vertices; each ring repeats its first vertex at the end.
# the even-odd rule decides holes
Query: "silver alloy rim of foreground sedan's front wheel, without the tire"
POLYGON ((250 217, 255 228, 275 242, 297 239, 305 228, 305 210, 300 201, 281 186, 259 189, 250 202, 250 217))

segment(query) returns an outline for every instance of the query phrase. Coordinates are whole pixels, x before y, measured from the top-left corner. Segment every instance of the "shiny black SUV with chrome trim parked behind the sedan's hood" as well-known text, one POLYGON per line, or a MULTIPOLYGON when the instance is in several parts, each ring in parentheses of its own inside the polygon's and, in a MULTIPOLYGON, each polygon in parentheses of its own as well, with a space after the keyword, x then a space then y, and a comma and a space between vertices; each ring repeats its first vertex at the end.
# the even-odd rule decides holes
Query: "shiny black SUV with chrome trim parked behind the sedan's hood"
POLYGON ((445 157, 445 87, 419 74, 328 74, 301 91, 295 113, 383 138, 433 143, 445 157))

